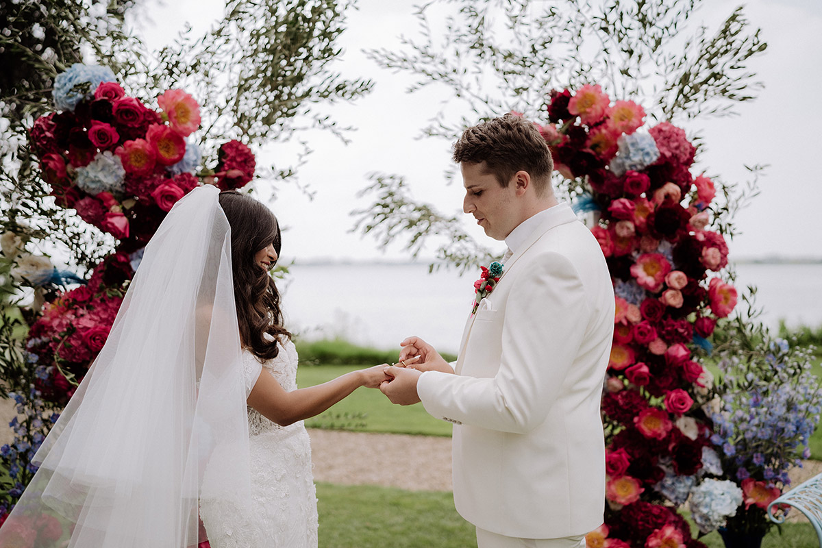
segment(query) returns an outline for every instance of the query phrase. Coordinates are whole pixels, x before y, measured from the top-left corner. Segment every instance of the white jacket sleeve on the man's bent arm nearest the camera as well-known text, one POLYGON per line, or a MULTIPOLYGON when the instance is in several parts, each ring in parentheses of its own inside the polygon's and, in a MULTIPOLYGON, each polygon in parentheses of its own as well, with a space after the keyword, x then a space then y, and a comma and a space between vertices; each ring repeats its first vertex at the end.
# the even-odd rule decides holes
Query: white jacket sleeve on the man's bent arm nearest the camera
POLYGON ((496 376, 438 371, 420 376, 417 391, 432 416, 520 434, 545 421, 574 363, 590 311, 570 260, 557 253, 537 259, 510 290, 496 376))

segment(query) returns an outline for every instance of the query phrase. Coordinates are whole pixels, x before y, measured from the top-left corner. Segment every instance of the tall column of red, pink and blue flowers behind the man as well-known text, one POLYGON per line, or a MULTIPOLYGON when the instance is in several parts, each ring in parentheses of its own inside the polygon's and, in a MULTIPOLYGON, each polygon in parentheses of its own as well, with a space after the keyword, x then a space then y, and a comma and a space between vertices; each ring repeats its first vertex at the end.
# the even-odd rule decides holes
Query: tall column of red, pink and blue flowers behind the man
MULTIPOLYGON (((691 173, 696 148, 685 131, 670 122, 646 127, 640 105, 612 102, 599 85, 554 90, 546 110, 548 123, 539 130, 557 171, 587 191, 598 210, 591 230, 616 296, 602 400, 607 511, 589 544, 704 546, 677 507, 690 500, 701 532, 734 527, 734 517, 750 507, 746 500, 767 498, 762 490, 774 489, 776 477, 760 474, 759 481, 771 481, 766 486, 728 477, 728 455, 716 443, 723 422, 705 405, 713 394, 738 389, 725 380, 714 387, 700 363, 738 297, 722 274, 727 243, 710 229, 716 189, 709 177, 691 173)), ((812 414, 797 440, 809 435, 812 414)), ((739 422, 727 422, 738 440, 739 422)), ((763 458, 775 462, 770 453, 763 458)))

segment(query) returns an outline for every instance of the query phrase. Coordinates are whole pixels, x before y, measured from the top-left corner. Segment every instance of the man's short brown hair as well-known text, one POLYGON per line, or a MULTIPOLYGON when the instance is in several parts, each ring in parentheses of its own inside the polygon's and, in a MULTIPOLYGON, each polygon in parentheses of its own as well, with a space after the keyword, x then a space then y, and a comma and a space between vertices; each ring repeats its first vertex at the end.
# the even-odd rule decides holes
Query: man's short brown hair
POLYGON ((518 171, 526 171, 537 194, 551 186, 554 162, 551 150, 533 122, 506 114, 463 131, 454 144, 457 163, 485 162, 501 187, 507 187, 518 171))

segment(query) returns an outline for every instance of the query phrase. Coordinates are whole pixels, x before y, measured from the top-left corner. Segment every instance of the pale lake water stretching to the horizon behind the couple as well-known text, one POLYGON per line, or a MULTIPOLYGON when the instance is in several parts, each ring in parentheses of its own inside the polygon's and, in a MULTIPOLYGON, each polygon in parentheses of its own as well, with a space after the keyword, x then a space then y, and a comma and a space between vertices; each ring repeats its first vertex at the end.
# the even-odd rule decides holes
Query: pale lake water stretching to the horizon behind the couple
MULTIPOLYGON (((341 336, 399 348, 418 335, 455 352, 473 302, 473 270, 459 276, 426 264, 293 265, 283 285, 286 325, 306 338, 341 336)), ((737 265, 737 288, 755 285, 761 320, 773 328, 822 325, 822 265, 737 265)))

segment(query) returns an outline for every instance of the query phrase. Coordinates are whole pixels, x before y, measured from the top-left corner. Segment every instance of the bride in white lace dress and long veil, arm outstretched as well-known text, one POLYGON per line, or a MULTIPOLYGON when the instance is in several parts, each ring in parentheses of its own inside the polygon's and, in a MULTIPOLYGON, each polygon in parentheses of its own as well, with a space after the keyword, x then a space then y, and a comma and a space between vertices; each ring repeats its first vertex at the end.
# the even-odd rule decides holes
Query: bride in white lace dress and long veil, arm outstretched
POLYGON ((250 196, 205 186, 174 205, 0 546, 187 548, 203 529, 213 548, 317 546, 302 419, 386 376, 297 389, 268 274, 279 248, 250 196))

